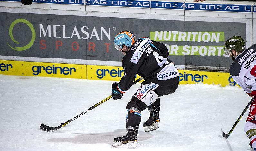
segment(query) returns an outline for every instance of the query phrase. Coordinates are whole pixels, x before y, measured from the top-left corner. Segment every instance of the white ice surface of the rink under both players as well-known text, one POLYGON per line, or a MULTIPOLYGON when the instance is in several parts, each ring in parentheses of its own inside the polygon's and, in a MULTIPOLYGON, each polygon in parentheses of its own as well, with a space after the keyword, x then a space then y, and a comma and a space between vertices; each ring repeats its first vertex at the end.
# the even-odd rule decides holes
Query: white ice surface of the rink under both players
MULTIPOLYGON (((111 95, 112 81, 0 75, 0 151, 127 150, 112 147, 125 135, 126 104, 139 84, 123 98, 104 102, 55 132, 57 127, 111 95)), ((180 85, 161 97, 159 129, 144 132, 149 113, 142 111, 135 150, 246 151, 246 115, 228 139, 250 97, 238 87, 180 85)), ((247 113, 246 113, 247 114, 247 113)))

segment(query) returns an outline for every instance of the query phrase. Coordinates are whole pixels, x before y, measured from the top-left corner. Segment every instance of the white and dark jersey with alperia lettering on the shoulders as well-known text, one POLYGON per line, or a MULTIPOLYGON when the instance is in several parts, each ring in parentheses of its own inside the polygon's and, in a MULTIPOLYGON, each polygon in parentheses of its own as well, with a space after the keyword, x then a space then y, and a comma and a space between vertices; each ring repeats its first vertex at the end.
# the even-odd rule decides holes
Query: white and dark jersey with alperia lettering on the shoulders
POLYGON ((256 44, 235 58, 229 73, 247 93, 256 91, 256 44))

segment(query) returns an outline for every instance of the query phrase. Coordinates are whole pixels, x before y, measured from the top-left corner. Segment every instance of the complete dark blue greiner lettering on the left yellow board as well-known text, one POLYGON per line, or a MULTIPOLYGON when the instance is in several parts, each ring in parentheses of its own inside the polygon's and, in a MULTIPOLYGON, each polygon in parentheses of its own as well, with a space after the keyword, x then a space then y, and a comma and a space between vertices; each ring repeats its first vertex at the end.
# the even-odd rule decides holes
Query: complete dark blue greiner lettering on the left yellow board
POLYGON ((42 70, 44 70, 47 74, 64 74, 64 75, 72 75, 72 70, 73 72, 76 72, 75 68, 68 68, 68 67, 55 67, 54 65, 51 66, 33 66, 32 67, 32 71, 33 71, 33 75, 37 76, 39 75, 42 70))

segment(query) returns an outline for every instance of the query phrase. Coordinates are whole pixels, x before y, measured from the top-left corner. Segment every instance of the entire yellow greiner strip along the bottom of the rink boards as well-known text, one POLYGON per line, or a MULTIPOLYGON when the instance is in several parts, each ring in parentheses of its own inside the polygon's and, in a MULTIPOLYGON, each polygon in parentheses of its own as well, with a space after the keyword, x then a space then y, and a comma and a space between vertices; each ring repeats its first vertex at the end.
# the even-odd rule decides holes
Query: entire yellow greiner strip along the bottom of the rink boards
MULTIPOLYGON (((0 74, 119 81, 122 67, 0 60, 0 74)), ((229 73, 179 70, 180 84, 237 85, 229 73)), ((139 78, 136 75, 136 79, 139 78)))

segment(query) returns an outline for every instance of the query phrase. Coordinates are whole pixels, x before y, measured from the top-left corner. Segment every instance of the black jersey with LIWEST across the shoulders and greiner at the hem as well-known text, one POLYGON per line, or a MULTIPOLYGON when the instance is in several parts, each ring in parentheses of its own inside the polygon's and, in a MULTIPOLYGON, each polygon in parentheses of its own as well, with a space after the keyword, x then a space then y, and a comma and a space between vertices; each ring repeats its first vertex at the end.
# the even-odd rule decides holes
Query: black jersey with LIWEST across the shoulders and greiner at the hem
POLYGON ((149 38, 135 41, 127 54, 123 57, 122 66, 124 76, 118 88, 126 91, 131 87, 136 74, 147 82, 169 86, 179 82, 179 72, 170 59, 169 52, 163 43, 149 38))

